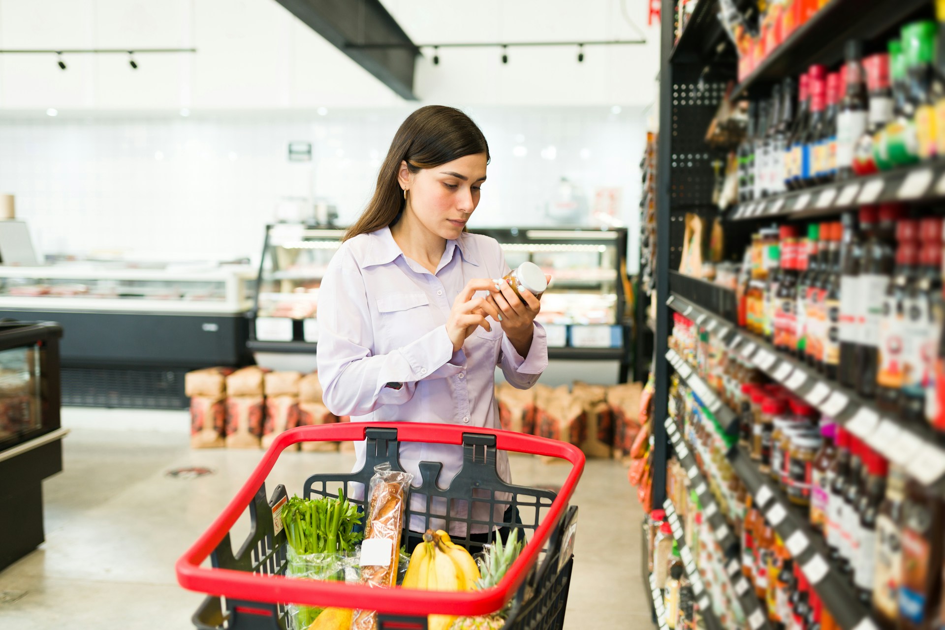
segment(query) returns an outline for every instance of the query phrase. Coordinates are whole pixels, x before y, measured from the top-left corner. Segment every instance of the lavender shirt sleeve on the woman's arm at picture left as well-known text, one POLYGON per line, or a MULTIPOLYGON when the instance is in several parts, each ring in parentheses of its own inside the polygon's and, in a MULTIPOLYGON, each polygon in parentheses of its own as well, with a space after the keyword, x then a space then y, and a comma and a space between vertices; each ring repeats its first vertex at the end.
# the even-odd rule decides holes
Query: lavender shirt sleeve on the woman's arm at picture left
POLYGON ((403 404, 418 381, 452 376, 465 366, 445 326, 387 354, 374 355, 373 347, 364 277, 352 252, 342 247, 318 290, 318 380, 329 411, 365 416, 382 405, 403 404))

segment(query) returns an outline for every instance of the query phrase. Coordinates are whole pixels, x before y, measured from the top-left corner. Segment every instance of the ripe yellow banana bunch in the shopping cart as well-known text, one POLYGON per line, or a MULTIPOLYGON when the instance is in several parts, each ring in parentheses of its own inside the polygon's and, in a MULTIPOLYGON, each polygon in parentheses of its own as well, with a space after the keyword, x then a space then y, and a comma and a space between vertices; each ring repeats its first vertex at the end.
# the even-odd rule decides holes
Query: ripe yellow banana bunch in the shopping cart
MULTIPOLYGON (((441 529, 427 530, 423 542, 410 556, 404 588, 422 590, 472 590, 479 580, 479 568, 465 548, 456 545, 441 529)), ((446 630, 455 621, 451 615, 430 615, 430 630, 446 630)))

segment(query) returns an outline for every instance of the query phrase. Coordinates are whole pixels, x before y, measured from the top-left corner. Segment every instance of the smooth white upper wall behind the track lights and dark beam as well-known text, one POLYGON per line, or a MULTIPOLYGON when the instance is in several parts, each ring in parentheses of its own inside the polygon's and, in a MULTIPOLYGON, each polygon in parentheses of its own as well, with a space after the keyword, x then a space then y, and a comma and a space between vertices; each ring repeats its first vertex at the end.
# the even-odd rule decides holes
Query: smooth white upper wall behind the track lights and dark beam
MULTIPOLYGON (((352 0, 353 1, 353 0, 352 0)), ((417 43, 629 40, 646 45, 442 49, 416 66, 424 102, 645 106, 659 28, 646 0, 386 0, 417 43)), ((396 107, 403 100, 275 0, 0 0, 0 48, 196 47, 196 54, 0 55, 0 111, 396 107)))

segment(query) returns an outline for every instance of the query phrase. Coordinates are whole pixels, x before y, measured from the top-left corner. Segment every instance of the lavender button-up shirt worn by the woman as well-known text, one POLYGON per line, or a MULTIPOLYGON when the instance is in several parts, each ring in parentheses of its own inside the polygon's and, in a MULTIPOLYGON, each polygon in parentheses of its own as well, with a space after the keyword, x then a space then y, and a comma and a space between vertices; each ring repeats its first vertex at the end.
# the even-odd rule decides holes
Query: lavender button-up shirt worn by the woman
MULTIPOLYGON (((388 228, 345 242, 318 291, 318 378, 325 406, 354 421, 500 428, 495 366, 501 366, 508 383, 516 387, 534 385, 548 365, 544 329, 535 324, 531 348, 523 357, 490 318, 491 332, 477 328, 454 352, 446 321, 467 282, 507 273, 502 248, 495 239, 479 234, 464 232, 447 241, 436 274, 404 256, 388 228), (402 384, 397 387, 397 383, 402 384)), ((364 442, 355 443, 355 453, 354 470, 358 470, 365 461, 364 442)), ((446 487, 462 468, 463 451, 461 446, 404 442, 400 457, 417 483, 419 462, 441 462, 438 484, 446 487)), ((499 452, 497 466, 500 476, 510 481, 504 451, 499 452)), ((422 510, 423 498, 415 498, 413 507, 422 510)), ((445 500, 431 505, 433 514, 445 514, 445 509, 445 500)), ((465 511, 450 509, 454 514, 457 509, 465 511)), ((502 516, 497 506, 493 518, 502 516)), ((488 520, 487 504, 475 502, 472 518, 488 520)), ((411 520, 411 529, 423 526, 420 518, 411 520)), ((442 521, 433 519, 428 526, 442 527, 442 521)), ((451 535, 466 536, 465 523, 454 522, 451 530, 451 535)), ((473 525, 472 531, 486 528, 473 525)))

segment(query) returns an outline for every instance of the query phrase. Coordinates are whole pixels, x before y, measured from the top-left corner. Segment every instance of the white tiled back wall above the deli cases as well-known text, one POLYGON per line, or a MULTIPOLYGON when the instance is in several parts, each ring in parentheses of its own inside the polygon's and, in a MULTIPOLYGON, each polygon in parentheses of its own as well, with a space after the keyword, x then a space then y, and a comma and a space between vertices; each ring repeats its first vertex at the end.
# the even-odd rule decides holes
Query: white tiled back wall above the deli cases
MULTIPOLYGON (((334 203, 340 223, 349 224, 412 109, 333 109, 325 116, 8 116, 0 120, 0 193, 16 196, 17 213, 45 253, 258 257, 263 228, 285 196, 334 203), (313 162, 287 161, 293 141, 313 143, 313 162)), ((558 201, 559 179, 566 177, 591 205, 597 188, 621 187, 620 218, 638 230, 645 136, 639 110, 467 111, 492 155, 476 225, 549 223, 547 209, 558 201), (516 146, 526 154, 516 156, 516 146), (554 160, 546 159, 550 146, 554 160)))

